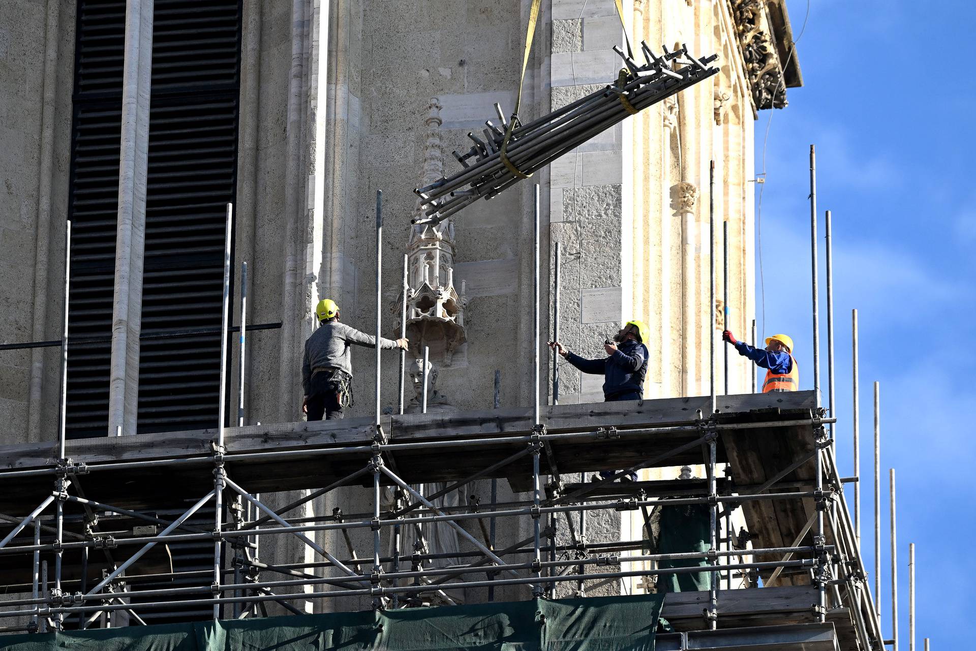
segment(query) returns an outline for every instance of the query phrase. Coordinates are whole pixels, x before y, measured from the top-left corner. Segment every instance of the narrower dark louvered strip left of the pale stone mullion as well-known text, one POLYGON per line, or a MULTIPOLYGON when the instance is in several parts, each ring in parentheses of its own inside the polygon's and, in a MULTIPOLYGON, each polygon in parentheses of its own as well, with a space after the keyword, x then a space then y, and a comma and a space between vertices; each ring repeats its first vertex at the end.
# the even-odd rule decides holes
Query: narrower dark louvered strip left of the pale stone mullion
POLYGON ((71 143, 67 436, 104 436, 122 120, 124 0, 78 0, 71 143))

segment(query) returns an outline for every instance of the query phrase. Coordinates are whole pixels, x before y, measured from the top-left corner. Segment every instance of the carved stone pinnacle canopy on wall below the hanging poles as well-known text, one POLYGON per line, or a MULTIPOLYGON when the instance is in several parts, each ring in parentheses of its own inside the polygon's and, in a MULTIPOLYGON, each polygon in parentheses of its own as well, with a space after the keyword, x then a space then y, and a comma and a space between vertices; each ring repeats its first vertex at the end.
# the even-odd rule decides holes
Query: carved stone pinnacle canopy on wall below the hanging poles
MULTIPOLYGON (((421 186, 444 176, 440 109, 437 98, 431 98, 425 120, 427 145, 421 186)), ((420 199, 414 213, 423 214, 420 199)), ((407 248, 407 339, 418 353, 429 346, 431 355, 440 354, 446 366, 467 339, 465 289, 464 283, 460 293, 454 287, 454 253, 454 224, 450 219, 411 228, 407 248)))

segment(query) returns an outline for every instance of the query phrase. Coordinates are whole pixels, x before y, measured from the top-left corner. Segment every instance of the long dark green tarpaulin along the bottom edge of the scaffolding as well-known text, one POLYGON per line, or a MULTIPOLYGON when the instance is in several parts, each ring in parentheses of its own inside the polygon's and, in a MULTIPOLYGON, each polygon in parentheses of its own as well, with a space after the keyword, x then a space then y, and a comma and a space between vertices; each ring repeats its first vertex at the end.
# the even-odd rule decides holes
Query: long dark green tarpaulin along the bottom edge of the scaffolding
POLYGON ((664 595, 0 635, 3 651, 653 651, 664 595))

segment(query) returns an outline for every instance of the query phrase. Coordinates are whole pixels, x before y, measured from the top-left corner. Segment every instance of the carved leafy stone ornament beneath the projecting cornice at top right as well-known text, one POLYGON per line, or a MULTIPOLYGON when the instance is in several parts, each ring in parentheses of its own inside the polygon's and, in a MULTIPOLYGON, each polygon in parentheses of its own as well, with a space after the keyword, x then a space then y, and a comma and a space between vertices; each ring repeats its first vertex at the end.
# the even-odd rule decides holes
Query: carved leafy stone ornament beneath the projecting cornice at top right
POLYGON ((746 77, 756 108, 784 108, 786 79, 773 42, 764 0, 729 0, 746 77))

